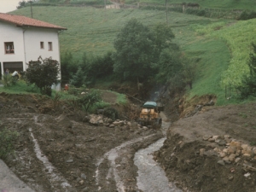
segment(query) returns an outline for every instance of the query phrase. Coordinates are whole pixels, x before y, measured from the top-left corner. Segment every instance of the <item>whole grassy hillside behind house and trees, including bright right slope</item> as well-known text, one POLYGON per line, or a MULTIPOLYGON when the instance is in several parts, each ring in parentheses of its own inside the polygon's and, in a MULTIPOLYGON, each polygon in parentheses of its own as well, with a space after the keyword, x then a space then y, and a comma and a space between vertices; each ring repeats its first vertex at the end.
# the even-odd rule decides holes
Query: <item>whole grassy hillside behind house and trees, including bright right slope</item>
MULTIPOLYGON (((79 60, 84 52, 103 55, 113 50, 113 39, 132 17, 147 26, 166 21, 166 13, 159 10, 34 7, 33 12, 38 20, 68 28, 60 34, 61 54, 70 51, 79 60)), ((30 9, 19 9, 13 13, 29 16, 30 9)), ((189 96, 214 94, 218 96, 219 105, 238 102, 226 100, 224 77, 230 73, 230 68, 235 70, 231 74, 240 74, 241 69, 247 72, 249 45, 255 40, 254 20, 236 23, 234 20, 212 20, 174 12, 168 16, 169 25, 176 35, 175 42, 181 45, 185 55, 198 60, 196 79, 193 89, 188 90, 189 96), (240 56, 239 60, 236 54, 240 56), (241 67, 236 70, 233 63, 239 63, 241 67)), ((228 78, 234 81, 237 75, 228 78)))

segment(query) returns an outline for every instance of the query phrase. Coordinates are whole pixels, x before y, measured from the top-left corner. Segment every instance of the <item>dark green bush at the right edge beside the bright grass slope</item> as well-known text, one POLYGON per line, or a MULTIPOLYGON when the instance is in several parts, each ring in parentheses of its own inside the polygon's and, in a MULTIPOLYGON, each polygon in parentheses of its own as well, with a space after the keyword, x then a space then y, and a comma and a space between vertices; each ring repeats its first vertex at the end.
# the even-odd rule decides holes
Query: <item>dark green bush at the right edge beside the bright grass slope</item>
POLYGON ((240 90, 241 99, 248 96, 256 96, 256 44, 252 43, 253 53, 250 53, 248 66, 250 74, 242 79, 241 85, 237 87, 240 90))

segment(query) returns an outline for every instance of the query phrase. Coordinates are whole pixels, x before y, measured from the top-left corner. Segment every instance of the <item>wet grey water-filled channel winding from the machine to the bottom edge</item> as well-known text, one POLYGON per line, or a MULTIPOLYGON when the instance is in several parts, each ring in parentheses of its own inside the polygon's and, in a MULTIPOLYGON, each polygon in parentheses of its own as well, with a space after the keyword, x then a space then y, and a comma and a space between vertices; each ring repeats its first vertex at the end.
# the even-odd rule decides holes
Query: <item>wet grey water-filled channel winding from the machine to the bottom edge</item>
MULTIPOLYGON (((163 115, 164 116, 164 115, 163 115)), ((166 117, 162 116, 162 119, 166 117)), ((170 123, 163 122, 162 130, 166 135, 166 129, 170 123)), ((153 152, 160 149, 166 137, 161 138, 156 143, 137 151, 134 157, 134 164, 138 168, 137 187, 144 192, 182 192, 183 190, 177 189, 174 183, 170 183, 166 177, 166 173, 160 165, 153 160, 153 152)))

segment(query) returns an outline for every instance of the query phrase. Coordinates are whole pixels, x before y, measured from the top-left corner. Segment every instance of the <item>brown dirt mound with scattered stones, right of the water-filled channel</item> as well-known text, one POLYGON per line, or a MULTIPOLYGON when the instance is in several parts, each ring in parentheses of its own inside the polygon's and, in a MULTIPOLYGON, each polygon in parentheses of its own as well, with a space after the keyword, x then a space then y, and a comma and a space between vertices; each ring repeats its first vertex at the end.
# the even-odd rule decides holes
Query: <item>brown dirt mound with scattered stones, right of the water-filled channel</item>
POLYGON ((184 191, 256 191, 255 109, 204 107, 171 125, 154 159, 184 191))

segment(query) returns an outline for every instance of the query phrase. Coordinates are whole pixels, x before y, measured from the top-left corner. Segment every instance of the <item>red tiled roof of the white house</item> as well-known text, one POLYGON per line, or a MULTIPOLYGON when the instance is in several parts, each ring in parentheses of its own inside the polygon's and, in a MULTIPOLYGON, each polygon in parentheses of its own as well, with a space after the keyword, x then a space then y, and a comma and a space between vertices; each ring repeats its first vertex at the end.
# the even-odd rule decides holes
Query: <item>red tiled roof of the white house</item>
POLYGON ((10 14, 2 14, 0 13, 0 20, 7 21, 10 23, 14 23, 17 26, 35 26, 35 27, 44 27, 44 28, 52 28, 58 30, 67 30, 67 28, 62 26, 56 26, 42 20, 35 20, 26 16, 21 15, 10 15, 10 14))

